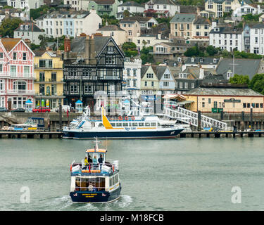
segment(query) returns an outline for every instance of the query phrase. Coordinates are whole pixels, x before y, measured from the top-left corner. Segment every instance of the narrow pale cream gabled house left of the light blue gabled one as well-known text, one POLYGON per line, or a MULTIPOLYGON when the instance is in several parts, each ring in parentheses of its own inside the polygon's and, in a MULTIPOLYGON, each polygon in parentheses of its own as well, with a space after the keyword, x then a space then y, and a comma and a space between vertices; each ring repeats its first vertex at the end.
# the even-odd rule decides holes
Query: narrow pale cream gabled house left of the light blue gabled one
POLYGON ((159 80, 156 76, 156 65, 142 65, 141 94, 154 95, 159 90, 159 80))

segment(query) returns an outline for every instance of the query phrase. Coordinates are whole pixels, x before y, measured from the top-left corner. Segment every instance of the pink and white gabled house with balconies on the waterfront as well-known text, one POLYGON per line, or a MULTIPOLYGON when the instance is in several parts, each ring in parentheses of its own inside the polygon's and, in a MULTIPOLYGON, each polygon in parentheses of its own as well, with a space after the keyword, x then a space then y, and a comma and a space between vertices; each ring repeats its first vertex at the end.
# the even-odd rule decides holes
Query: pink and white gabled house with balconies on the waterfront
POLYGON ((34 53, 23 39, 0 39, 0 106, 25 108, 34 103, 34 53))

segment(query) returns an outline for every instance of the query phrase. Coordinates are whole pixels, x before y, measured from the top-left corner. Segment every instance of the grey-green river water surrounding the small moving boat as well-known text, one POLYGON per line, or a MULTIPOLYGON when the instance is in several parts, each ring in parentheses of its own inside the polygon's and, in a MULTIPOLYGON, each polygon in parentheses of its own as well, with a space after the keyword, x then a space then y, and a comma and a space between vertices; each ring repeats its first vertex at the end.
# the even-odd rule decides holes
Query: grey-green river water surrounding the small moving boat
POLYGON ((69 197, 70 163, 93 141, 0 143, 0 210, 264 210, 262 138, 101 141, 107 158, 119 160, 122 185, 121 198, 107 204, 69 197))

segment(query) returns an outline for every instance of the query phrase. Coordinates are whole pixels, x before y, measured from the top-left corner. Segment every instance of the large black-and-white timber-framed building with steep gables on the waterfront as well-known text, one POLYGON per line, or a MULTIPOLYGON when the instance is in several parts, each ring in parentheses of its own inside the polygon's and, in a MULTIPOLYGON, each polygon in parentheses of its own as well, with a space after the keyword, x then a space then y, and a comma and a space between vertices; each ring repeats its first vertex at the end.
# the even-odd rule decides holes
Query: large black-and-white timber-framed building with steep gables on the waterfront
POLYGON ((63 79, 65 105, 94 108, 94 94, 113 96, 122 91, 125 54, 112 37, 97 35, 65 39, 63 79))

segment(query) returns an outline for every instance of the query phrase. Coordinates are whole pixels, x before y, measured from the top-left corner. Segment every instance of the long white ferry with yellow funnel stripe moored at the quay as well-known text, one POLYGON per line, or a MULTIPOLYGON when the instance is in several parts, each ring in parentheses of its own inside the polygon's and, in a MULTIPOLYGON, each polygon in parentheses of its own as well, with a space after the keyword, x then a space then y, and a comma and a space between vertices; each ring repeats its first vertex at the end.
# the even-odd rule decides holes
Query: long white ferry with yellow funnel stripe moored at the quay
POLYGON ((89 117, 85 110, 77 120, 63 128, 64 139, 164 139, 175 138, 184 128, 179 124, 163 124, 157 115, 106 117, 101 108, 101 120, 89 117))

